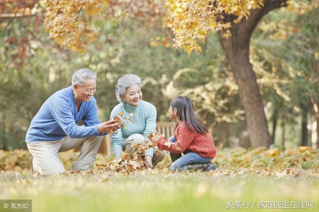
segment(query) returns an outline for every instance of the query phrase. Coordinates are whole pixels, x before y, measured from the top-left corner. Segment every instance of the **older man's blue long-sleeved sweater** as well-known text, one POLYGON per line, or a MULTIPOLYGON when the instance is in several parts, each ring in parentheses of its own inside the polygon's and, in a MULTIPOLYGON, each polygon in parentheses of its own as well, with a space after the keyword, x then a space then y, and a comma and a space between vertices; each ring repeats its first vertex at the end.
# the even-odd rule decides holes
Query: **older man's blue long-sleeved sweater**
POLYGON ((78 111, 70 86, 55 92, 43 103, 31 121, 25 141, 59 141, 66 135, 70 138, 103 136, 104 133, 98 133, 100 123, 95 98, 82 101, 78 111), (80 120, 85 127, 76 125, 80 120))

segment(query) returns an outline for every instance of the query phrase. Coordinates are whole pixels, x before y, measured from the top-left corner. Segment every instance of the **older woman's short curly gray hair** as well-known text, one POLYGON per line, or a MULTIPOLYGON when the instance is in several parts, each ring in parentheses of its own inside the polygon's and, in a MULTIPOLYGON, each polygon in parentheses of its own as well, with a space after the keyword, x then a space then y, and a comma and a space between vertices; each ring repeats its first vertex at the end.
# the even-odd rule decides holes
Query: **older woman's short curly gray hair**
POLYGON ((123 102, 122 96, 125 95, 126 88, 135 84, 142 88, 142 79, 140 76, 135 74, 125 74, 118 79, 115 86, 115 95, 120 103, 123 102))

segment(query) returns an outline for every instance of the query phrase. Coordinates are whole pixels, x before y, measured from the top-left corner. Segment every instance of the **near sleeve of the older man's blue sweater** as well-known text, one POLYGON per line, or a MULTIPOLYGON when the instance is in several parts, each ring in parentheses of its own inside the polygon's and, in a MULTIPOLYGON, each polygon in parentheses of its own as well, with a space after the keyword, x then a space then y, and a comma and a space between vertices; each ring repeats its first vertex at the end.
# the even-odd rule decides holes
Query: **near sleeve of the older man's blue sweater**
POLYGON ((72 105, 66 99, 57 98, 50 108, 51 114, 58 125, 70 138, 85 138, 90 136, 97 136, 98 125, 92 126, 78 126, 75 123, 72 115, 72 105))

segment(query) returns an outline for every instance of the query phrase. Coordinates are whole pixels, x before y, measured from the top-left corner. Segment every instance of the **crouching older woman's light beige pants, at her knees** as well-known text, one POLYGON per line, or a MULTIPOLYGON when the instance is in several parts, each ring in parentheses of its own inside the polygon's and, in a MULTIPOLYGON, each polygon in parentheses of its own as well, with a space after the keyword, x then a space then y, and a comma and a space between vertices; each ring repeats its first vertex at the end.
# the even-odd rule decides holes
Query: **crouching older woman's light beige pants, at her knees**
MULTIPOLYGON (((122 150, 123 151, 127 151, 127 152, 132 152, 135 148, 136 143, 141 143, 142 145, 145 145, 145 139, 141 134, 133 134, 131 136, 129 136, 129 138, 127 138, 124 142, 123 142, 123 146, 122 146, 122 150)), ((167 154, 167 151, 163 150, 163 151, 158 151, 158 150, 154 150, 154 155, 152 158, 152 163, 154 165, 157 165, 160 161, 162 161, 165 157, 165 155, 167 154)))

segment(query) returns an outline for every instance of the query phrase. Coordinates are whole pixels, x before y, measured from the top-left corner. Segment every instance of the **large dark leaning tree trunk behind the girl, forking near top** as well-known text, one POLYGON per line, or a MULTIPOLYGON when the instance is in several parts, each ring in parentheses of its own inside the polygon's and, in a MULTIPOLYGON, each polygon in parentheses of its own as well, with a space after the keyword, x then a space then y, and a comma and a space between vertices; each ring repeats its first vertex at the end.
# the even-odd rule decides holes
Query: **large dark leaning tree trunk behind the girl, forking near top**
POLYGON ((225 14, 225 22, 231 23, 231 37, 226 39, 219 31, 219 41, 226 53, 231 70, 239 88, 240 101, 244 107, 249 138, 252 147, 271 144, 264 105, 259 93, 256 75, 249 62, 249 42, 261 18, 269 11, 286 5, 286 0, 264 0, 264 7, 251 10, 249 18, 235 24, 235 15, 225 14))

